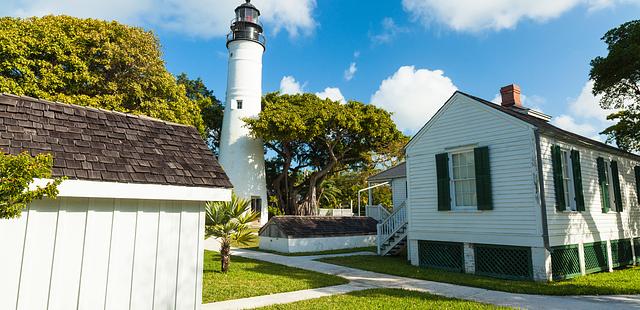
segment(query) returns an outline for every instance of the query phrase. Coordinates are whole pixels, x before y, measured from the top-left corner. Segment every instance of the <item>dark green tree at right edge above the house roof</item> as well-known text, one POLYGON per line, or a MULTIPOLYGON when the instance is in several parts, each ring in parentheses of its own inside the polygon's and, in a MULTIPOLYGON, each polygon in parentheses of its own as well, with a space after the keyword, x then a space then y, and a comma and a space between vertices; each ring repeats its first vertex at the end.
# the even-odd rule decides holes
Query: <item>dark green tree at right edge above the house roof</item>
POLYGON ((628 151, 640 151, 640 20, 609 30, 602 40, 605 57, 591 61, 593 93, 602 95, 600 105, 617 109, 608 119, 617 123, 604 133, 628 151))

